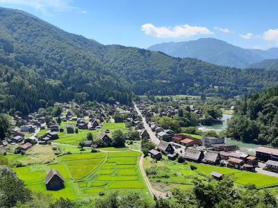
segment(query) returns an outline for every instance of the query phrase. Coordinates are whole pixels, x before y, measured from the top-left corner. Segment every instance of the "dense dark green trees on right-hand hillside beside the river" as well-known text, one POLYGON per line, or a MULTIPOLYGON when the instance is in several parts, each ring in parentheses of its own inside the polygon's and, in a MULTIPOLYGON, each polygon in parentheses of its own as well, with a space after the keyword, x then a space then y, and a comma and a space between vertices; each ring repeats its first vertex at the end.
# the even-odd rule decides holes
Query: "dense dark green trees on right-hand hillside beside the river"
POLYGON ((234 139, 278 147, 278 87, 245 98, 228 124, 234 139))

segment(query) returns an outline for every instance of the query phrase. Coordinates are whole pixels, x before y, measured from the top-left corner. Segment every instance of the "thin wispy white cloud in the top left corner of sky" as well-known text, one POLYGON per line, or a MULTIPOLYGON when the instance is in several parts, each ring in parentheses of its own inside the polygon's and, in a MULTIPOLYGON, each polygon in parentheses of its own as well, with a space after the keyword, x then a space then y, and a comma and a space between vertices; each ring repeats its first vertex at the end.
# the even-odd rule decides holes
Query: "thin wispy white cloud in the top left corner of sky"
POLYGON ((10 3, 20 6, 29 6, 40 12, 61 12, 74 8, 71 0, 0 0, 0 3, 10 3))

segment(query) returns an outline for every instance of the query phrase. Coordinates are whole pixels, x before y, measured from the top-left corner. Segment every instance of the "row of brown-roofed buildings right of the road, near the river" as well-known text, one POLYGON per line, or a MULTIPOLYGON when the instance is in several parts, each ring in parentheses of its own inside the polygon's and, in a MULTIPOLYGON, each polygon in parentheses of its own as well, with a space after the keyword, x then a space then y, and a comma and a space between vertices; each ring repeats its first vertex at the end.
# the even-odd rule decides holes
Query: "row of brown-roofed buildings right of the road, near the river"
POLYGON ((256 157, 240 153, 236 149, 234 145, 225 144, 224 138, 204 137, 201 140, 176 134, 171 142, 161 140, 156 149, 149 153, 158 160, 162 155, 167 155, 168 159, 180 156, 189 162, 228 166, 245 171, 255 171, 259 162, 265 162, 265 170, 278 172, 278 148, 260 146, 256 149, 256 157))

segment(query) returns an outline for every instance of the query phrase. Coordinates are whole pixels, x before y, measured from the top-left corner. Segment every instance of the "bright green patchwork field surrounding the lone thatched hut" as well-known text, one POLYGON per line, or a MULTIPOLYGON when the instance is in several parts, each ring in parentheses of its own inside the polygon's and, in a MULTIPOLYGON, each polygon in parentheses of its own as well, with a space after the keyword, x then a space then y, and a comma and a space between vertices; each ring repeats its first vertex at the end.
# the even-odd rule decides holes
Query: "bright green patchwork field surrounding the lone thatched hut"
POLYGON ((137 190, 148 193, 138 160, 140 153, 123 151, 113 153, 78 153, 58 157, 54 164, 31 165, 13 168, 18 177, 33 191, 49 193, 54 199, 60 197, 78 200, 99 196, 99 192, 113 190, 126 192, 137 190), (65 189, 47 191, 45 176, 56 168, 65 179, 65 189))

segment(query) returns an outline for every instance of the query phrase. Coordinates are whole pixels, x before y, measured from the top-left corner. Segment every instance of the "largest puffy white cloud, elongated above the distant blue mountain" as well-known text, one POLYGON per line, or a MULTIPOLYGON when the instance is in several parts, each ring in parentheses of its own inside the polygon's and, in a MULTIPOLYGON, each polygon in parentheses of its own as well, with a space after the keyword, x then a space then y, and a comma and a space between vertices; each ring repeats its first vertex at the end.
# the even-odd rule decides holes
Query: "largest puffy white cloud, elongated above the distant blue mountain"
POLYGON ((153 24, 147 23, 143 24, 141 29, 146 35, 152 35, 154 37, 192 37, 199 34, 213 34, 206 27, 190 26, 188 24, 171 28, 156 27, 153 24))

